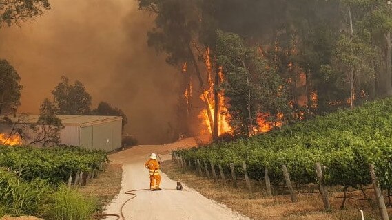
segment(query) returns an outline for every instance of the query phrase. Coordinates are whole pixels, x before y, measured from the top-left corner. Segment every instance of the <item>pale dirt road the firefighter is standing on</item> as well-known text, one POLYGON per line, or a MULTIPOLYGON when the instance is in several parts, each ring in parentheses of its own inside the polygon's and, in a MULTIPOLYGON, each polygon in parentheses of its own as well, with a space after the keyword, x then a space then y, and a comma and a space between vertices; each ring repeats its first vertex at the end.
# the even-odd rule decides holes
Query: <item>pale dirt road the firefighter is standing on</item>
MULTIPOLYGON (((171 159, 169 151, 175 148, 194 146, 194 139, 182 140, 174 144, 158 146, 135 146, 125 151, 110 155, 114 164, 123 164, 123 181, 120 194, 106 208, 107 214, 120 214, 123 203, 132 197, 125 195, 127 190, 149 188, 148 170, 143 164, 149 153, 158 153, 163 160, 171 159)), ((125 204, 125 219, 247 219, 229 208, 203 197, 198 192, 184 186, 183 191, 176 191, 176 181, 161 173, 162 191, 139 191, 137 197, 125 204)), ((107 219, 116 219, 107 217, 107 219)))

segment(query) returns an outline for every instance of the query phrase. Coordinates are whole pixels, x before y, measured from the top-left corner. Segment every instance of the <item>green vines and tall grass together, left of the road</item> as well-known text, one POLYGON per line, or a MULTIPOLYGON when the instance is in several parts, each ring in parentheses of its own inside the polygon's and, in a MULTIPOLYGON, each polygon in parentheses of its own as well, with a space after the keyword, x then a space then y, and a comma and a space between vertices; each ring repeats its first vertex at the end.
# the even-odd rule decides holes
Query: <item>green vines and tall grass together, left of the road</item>
POLYGON ((79 147, 0 146, 0 217, 90 219, 96 201, 72 185, 99 175, 106 160, 103 151, 79 147))

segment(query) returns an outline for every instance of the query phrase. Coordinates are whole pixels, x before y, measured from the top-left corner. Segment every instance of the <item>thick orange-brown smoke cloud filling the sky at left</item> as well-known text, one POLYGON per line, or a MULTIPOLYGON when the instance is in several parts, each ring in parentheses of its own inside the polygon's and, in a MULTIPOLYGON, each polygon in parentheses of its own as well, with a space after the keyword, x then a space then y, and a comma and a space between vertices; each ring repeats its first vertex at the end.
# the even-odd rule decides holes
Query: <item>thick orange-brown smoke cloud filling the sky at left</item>
POLYGON ((166 142, 174 124, 176 69, 147 47, 153 17, 127 0, 52 0, 52 10, 21 27, 0 29, 0 58, 21 76, 19 112, 38 113, 61 75, 121 108, 125 133, 143 144, 166 142))

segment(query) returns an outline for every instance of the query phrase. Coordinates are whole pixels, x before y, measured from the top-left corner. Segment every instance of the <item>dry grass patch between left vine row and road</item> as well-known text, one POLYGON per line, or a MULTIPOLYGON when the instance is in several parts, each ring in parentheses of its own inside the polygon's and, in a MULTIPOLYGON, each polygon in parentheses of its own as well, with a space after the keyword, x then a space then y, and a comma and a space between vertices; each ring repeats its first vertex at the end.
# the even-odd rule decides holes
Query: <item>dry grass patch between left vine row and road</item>
POLYGON ((122 173, 121 165, 105 164, 104 171, 99 178, 87 181, 87 185, 81 186, 79 192, 86 196, 94 195, 94 197, 97 197, 99 206, 103 210, 120 192, 122 173))

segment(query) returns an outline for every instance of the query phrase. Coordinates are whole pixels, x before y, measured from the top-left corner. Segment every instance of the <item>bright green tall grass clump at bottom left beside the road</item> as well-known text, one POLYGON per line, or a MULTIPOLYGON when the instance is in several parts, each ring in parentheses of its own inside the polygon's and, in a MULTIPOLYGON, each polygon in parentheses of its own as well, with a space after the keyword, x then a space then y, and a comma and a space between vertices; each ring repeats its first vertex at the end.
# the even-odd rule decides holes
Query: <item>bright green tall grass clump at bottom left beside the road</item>
POLYGON ((77 190, 68 190, 61 185, 53 195, 54 208, 45 219, 51 220, 86 220, 98 210, 98 201, 94 197, 84 198, 77 190))

